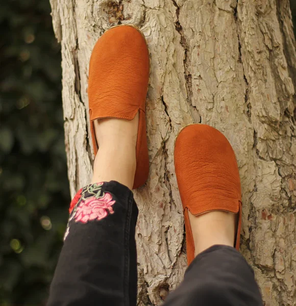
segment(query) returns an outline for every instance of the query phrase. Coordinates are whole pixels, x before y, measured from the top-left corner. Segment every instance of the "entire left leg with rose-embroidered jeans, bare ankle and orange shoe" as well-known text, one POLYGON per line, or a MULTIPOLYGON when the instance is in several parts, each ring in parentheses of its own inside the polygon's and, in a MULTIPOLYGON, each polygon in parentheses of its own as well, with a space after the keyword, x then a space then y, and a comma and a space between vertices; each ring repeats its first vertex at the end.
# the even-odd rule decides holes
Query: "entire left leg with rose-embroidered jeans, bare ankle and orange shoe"
POLYGON ((144 184, 149 169, 148 80, 149 53, 138 30, 118 27, 98 40, 88 87, 92 184, 72 200, 50 306, 136 304, 138 210, 130 189, 144 184))

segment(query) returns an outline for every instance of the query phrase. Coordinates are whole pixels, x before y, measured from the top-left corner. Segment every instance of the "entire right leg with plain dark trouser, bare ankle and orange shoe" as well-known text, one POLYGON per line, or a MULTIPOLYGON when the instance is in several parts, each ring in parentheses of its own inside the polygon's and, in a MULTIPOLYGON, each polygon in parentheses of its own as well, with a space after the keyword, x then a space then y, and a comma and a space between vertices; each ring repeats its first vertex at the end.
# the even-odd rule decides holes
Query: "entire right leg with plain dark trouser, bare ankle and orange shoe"
POLYGON ((227 139, 208 125, 179 134, 175 168, 184 208, 189 267, 165 306, 261 306, 252 268, 239 246, 240 182, 227 139))

